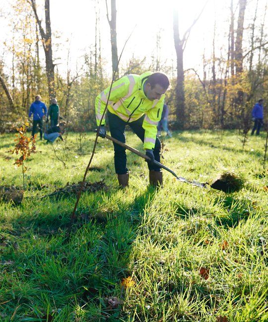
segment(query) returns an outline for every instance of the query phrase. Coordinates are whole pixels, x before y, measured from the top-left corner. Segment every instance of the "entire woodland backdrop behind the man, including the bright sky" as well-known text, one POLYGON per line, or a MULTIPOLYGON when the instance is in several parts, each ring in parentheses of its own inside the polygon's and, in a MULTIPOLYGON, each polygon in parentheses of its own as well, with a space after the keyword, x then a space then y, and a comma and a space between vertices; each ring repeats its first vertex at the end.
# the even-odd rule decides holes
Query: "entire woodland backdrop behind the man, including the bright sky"
POLYGON ((247 133, 254 103, 268 101, 267 8, 267 0, 1 2, 0 132, 27 119, 36 94, 47 106, 57 97, 68 129, 91 130, 95 97, 113 73, 160 70, 172 84, 172 129, 247 133))

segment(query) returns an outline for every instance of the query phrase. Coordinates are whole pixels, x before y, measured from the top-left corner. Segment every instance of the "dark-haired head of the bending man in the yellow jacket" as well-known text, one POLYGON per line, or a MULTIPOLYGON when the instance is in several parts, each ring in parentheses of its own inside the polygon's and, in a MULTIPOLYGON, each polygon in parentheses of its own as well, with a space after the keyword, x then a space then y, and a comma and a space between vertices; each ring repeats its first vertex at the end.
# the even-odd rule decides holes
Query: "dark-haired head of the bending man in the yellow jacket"
POLYGON ((152 73, 144 84, 144 93, 148 100, 159 100, 170 85, 167 75, 161 72, 152 73))

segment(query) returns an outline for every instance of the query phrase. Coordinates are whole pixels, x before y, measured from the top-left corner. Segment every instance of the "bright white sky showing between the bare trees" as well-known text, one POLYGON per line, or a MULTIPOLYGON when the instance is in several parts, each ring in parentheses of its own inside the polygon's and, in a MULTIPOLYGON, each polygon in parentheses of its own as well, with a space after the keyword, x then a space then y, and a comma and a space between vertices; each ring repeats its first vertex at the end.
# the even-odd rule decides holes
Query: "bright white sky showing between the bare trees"
MULTIPOLYGON (((15 0, 7 0, 9 3, 15 0)), ((7 7, 6 1, 0 0, 0 9, 7 7)), ((8 3, 7 2, 7 3, 8 3)), ((38 11, 44 6, 44 0, 36 0, 38 11)), ((238 11, 234 0, 235 10, 238 11)), ((264 12, 267 0, 248 0, 245 24, 252 19, 252 12, 258 2, 258 18, 264 12)), ((108 0, 108 4, 110 0, 108 0)), ((123 46, 131 35, 124 50, 121 65, 131 57, 144 58, 157 55, 156 35, 161 37, 161 51, 158 53, 162 61, 176 69, 176 53, 173 40, 173 9, 179 9, 180 36, 190 27, 194 19, 203 12, 192 28, 184 52, 184 68, 202 70, 202 55, 211 57, 213 28, 216 21, 216 51, 220 54, 223 45, 227 46, 226 34, 229 28, 230 0, 117 0, 117 41, 120 55, 123 46)), ((105 0, 50 0, 51 23, 54 36, 53 55, 59 71, 67 71, 67 54, 69 51, 69 65, 75 68, 83 64, 82 57, 93 50, 95 43, 95 6, 99 10, 99 32, 101 38, 102 58, 107 60, 108 70, 111 66, 110 27, 106 17, 105 0), (57 45, 58 46, 55 46, 57 45)), ((7 10, 7 9, 6 9, 7 10)), ((7 30, 8 16, 0 19, 0 29, 7 30), (4 28, 3 28, 4 26, 4 28)), ((5 35, 8 38, 8 31, 5 35)), ((120 68, 120 66, 119 66, 120 68)))

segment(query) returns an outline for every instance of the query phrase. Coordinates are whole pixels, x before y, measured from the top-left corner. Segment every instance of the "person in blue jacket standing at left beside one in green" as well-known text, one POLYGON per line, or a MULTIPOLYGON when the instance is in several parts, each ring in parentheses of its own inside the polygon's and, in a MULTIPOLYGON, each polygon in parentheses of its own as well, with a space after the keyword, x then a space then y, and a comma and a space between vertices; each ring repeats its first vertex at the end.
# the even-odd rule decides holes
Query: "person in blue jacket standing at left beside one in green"
POLYGON ((46 104, 41 102, 41 96, 36 95, 35 101, 30 106, 29 118, 33 115, 33 128, 32 128, 32 137, 36 132, 37 125, 39 127, 40 139, 43 138, 43 117, 47 115, 46 104))

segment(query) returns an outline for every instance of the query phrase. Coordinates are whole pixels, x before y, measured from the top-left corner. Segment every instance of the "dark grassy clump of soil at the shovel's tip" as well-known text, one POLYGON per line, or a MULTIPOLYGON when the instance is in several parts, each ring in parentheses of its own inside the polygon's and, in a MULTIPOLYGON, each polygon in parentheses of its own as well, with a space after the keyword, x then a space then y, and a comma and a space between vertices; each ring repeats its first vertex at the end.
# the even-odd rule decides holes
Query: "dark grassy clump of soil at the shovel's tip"
POLYGON ((244 184, 245 180, 240 174, 232 171, 225 171, 212 181, 210 187, 225 193, 232 193, 242 189, 244 184))

